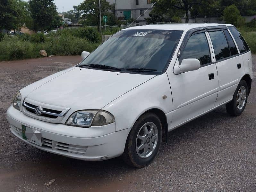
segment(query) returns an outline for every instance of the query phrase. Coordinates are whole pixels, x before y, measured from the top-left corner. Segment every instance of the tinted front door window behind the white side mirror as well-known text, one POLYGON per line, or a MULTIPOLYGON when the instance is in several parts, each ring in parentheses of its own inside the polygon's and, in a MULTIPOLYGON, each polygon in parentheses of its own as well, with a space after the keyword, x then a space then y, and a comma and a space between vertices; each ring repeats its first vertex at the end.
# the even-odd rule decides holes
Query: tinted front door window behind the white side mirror
POLYGON ((205 33, 192 35, 186 44, 181 57, 183 59, 198 59, 201 65, 211 62, 210 50, 205 33))

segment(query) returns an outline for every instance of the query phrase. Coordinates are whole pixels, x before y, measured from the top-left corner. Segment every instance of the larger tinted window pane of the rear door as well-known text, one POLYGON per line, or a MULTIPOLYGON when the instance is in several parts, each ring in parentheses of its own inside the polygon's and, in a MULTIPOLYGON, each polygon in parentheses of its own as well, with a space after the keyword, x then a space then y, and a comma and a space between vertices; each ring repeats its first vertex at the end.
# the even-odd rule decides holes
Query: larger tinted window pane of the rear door
POLYGON ((216 60, 230 57, 229 47, 223 31, 209 32, 216 60))

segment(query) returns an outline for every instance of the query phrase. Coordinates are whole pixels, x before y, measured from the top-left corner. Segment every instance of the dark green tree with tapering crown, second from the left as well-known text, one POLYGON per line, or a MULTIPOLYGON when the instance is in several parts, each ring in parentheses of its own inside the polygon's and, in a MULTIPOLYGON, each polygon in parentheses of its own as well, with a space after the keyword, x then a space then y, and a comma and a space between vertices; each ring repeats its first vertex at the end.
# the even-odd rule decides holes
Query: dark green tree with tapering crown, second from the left
POLYGON ((34 25, 43 33, 46 26, 49 26, 58 14, 56 5, 53 0, 29 0, 29 6, 34 25))

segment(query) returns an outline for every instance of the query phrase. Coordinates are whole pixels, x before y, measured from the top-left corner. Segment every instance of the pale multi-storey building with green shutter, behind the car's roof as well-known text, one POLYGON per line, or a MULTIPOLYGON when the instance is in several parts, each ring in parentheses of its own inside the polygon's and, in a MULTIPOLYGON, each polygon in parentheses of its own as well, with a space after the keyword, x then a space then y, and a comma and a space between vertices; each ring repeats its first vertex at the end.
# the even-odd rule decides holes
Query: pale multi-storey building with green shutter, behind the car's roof
MULTIPOLYGON (((115 16, 119 20, 137 19, 143 12, 152 6, 151 0, 107 0, 109 4, 115 4, 115 16), (132 12, 131 12, 132 8, 132 12)), ((142 14, 136 23, 145 23, 153 7, 142 14)))

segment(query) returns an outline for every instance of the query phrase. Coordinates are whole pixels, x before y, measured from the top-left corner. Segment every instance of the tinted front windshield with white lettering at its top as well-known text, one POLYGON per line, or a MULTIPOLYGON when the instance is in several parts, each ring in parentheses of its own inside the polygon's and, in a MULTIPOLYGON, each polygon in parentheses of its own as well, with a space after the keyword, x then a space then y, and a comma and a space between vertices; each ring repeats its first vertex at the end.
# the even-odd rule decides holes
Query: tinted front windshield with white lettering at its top
POLYGON ((118 69, 153 69, 160 74, 180 40, 183 31, 121 30, 92 52, 78 67, 106 65, 118 69))

